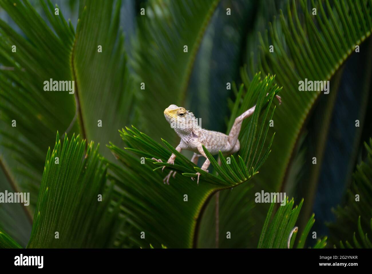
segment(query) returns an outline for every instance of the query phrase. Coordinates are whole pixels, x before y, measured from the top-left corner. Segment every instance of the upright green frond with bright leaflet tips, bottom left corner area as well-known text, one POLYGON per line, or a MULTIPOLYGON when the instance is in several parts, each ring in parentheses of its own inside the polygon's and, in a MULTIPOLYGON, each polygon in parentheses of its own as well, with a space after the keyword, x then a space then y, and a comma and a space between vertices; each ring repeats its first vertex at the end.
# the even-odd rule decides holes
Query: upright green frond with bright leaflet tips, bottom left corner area
POLYGON ((106 167, 93 142, 59 135, 48 150, 28 248, 112 247, 121 225, 106 167), (58 164, 56 163, 58 157, 58 164), (100 200, 99 195, 102 199, 100 200), (58 232, 58 237, 57 233, 58 232))

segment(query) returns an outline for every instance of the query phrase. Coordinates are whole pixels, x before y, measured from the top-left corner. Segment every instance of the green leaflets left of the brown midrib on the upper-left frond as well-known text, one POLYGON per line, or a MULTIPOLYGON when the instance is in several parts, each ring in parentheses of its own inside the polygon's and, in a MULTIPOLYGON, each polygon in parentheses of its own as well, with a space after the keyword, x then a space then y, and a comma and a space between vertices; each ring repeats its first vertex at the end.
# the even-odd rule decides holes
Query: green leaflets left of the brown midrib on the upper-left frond
MULTIPOLYGON (((50 78, 71 80, 70 53, 74 31, 62 23, 65 22, 62 17, 52 16, 45 3, 44 12, 52 20, 55 33, 61 37, 48 28, 28 1, 0 1, 0 5, 27 37, 17 34, 0 20, 0 62, 11 68, 0 73, 0 108, 4 121, 1 140, 4 147, 15 152, 18 163, 25 166, 28 181, 39 185, 44 153, 48 148, 46 143, 52 144, 55 132, 67 130, 74 117, 73 95, 44 91, 44 81, 50 78), (15 53, 12 53, 12 45, 16 46, 15 53), (13 120, 16 127, 11 126, 13 120)), ((10 158, 2 160, 10 161, 10 158)), ((8 172, 16 173, 14 170, 8 172)), ((21 181, 19 185, 22 190, 37 193, 31 183, 21 181)), ((31 198, 36 201, 35 195, 31 198)))

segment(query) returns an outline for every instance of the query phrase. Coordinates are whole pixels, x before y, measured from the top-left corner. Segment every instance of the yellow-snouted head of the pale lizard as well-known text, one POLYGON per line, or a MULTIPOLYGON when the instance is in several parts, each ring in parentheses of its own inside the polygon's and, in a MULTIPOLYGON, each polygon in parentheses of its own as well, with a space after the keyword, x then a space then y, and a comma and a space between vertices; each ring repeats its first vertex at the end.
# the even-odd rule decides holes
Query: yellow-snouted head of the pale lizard
POLYGON ((193 129, 199 127, 198 120, 194 114, 184 107, 177 107, 177 105, 170 105, 164 110, 165 119, 167 119, 170 126, 180 134, 188 134, 193 129))

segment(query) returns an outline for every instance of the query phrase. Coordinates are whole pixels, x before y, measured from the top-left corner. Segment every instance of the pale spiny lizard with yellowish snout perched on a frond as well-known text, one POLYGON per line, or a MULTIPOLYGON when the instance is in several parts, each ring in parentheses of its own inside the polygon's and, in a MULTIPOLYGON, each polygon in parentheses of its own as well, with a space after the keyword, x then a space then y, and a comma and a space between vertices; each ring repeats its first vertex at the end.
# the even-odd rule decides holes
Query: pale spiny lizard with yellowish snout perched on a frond
MULTIPOLYGON (((278 95, 276 95, 276 97, 278 98, 280 104, 280 97, 278 95)), ((239 151, 240 143, 238 136, 240 133, 241 124, 244 119, 253 114, 255 108, 256 106, 251 107, 235 119, 229 135, 217 131, 203 129, 198 125, 198 120, 195 118, 194 114, 186 110, 184 107, 170 105, 164 110, 164 116, 177 135, 181 138, 180 144, 176 147, 176 150, 178 152, 181 152, 182 149, 193 151, 194 155, 191 161, 194 164, 198 163, 200 156, 205 157, 206 160, 202 166, 202 170, 208 172, 208 167, 211 162, 206 157, 202 146, 204 145, 204 147, 208 149, 212 155, 218 154, 219 151, 221 151, 223 155, 231 155, 239 151)), ((167 163, 174 164, 175 159, 176 155, 172 153, 167 163)), ((160 159, 153 158, 153 160, 162 162, 160 159)), ((164 170, 164 168, 165 166, 162 170, 164 170)), ((176 175, 176 171, 171 170, 164 178, 164 183, 169 185, 169 178, 172 173, 173 177, 176 175)), ((196 174, 198 175, 199 184, 199 177, 201 174, 199 172, 196 174)), ((191 179, 194 180, 194 178, 191 179)))

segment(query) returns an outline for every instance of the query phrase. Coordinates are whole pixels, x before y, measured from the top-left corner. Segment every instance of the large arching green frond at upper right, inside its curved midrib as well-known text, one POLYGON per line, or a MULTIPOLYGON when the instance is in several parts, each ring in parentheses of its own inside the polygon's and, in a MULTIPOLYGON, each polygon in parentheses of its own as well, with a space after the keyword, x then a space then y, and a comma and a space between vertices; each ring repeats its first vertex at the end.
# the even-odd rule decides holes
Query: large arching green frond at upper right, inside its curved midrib
POLYGON ((273 145, 278 147, 275 155, 280 155, 280 163, 278 157, 270 158, 270 164, 267 163, 267 166, 281 168, 266 173, 261 178, 274 180, 276 188, 283 180, 285 167, 288 166, 300 129, 315 99, 321 94, 321 91, 300 92, 298 82, 304 81, 305 78, 314 81, 330 80, 353 53, 355 45, 360 45, 371 35, 372 30, 371 10, 366 8, 366 1, 355 1, 351 5, 345 1, 334 1, 334 6, 331 6, 326 0, 326 8, 321 1, 317 1, 317 5, 312 1, 312 6, 317 7, 317 16, 312 16, 306 1, 301 0, 300 3, 304 22, 298 19, 297 7, 292 1, 292 9, 288 5, 287 10, 288 22, 285 22, 281 12, 281 28, 277 25, 277 20, 274 20, 269 35, 261 40, 260 70, 275 73, 277 82, 288 88, 288 92, 283 95, 283 101, 286 103, 274 117, 275 127, 285 129, 280 132, 280 138, 273 142, 273 145), (343 7, 340 8, 340 5, 343 7), (351 13, 356 17, 352 19, 351 13), (344 25, 345 20, 350 24, 344 25), (320 27, 316 27, 315 21, 320 27), (285 44, 278 39, 279 33, 284 34, 285 44), (274 53, 269 53, 269 38, 276 49, 274 53))

